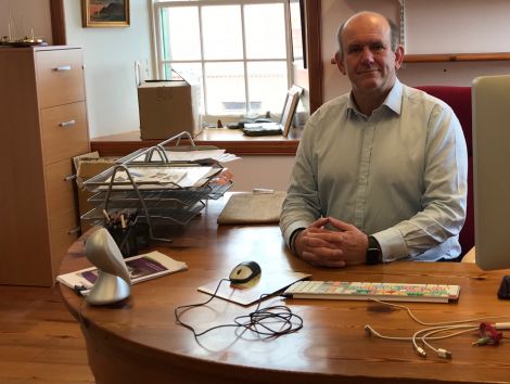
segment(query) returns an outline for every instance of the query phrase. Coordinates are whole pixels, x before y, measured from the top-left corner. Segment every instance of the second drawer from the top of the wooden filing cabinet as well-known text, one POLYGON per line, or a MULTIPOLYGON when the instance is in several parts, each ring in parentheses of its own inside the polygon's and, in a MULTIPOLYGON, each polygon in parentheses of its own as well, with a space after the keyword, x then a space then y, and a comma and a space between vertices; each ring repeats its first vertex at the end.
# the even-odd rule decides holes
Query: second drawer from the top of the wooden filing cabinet
POLYGON ((85 102, 53 106, 40 112, 44 164, 88 152, 85 102))

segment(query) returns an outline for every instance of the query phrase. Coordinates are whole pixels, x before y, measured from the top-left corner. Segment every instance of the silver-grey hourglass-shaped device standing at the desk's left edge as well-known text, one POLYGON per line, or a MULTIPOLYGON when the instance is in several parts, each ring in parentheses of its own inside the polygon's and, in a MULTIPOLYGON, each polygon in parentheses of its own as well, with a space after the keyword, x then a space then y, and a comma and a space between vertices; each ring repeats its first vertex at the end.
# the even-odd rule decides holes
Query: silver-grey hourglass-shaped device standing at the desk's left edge
POLYGON ((105 228, 90 235, 85 256, 98 268, 98 280, 87 295, 92 305, 120 302, 131 293, 131 278, 120 249, 105 228))

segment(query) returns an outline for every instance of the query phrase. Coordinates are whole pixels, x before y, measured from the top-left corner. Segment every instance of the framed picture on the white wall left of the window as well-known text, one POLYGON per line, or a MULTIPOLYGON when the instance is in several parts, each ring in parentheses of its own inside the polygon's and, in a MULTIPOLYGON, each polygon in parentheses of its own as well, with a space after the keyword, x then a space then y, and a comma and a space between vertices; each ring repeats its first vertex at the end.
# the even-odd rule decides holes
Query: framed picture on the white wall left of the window
POLYGON ((81 0, 84 27, 129 26, 129 0, 81 0))

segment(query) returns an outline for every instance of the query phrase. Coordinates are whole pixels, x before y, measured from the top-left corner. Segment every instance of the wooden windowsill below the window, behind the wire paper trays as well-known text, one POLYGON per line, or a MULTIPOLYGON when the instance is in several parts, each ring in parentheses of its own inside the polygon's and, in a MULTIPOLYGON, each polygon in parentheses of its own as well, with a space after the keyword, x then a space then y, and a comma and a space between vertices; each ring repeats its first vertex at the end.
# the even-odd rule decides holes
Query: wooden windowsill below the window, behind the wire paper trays
MULTIPOLYGON (((239 129, 207 128, 193 140, 196 145, 216 145, 235 155, 295 155, 303 129, 292 128, 289 137, 247 137, 239 129)), ((101 156, 124 156, 163 140, 141 140, 140 131, 92 138, 90 146, 101 156)))

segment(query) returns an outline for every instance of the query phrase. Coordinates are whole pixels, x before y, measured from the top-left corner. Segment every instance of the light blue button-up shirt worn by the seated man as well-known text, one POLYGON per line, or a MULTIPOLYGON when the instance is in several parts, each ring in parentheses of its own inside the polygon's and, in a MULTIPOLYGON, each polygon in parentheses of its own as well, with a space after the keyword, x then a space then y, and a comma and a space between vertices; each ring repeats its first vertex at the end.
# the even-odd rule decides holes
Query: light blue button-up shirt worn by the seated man
POLYGON ((396 80, 383 105, 361 114, 350 94, 308 119, 280 227, 291 234, 332 216, 375 236, 383 261, 460 254, 468 153, 443 101, 396 80))

